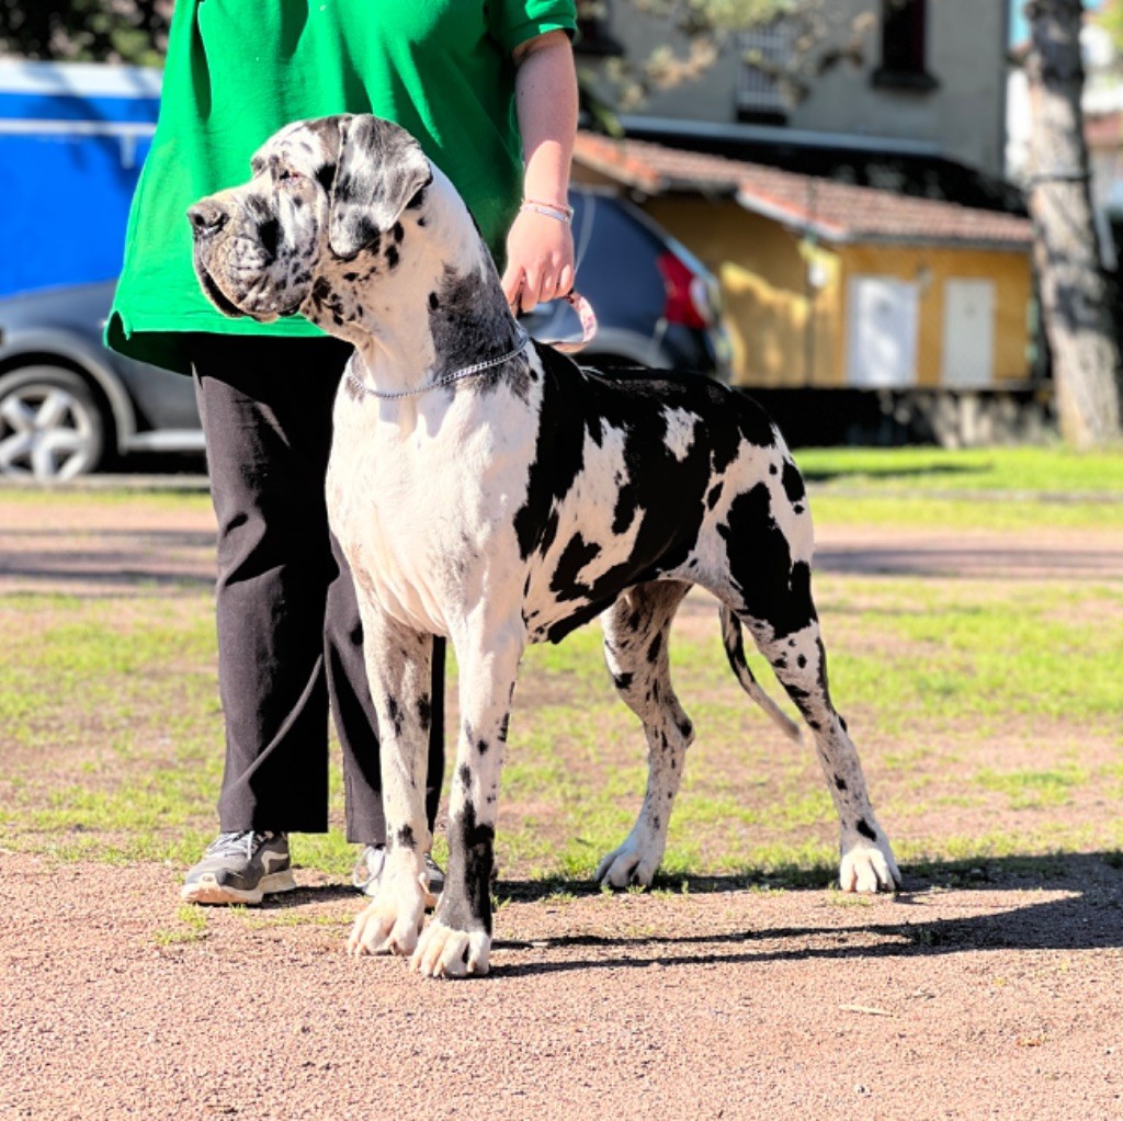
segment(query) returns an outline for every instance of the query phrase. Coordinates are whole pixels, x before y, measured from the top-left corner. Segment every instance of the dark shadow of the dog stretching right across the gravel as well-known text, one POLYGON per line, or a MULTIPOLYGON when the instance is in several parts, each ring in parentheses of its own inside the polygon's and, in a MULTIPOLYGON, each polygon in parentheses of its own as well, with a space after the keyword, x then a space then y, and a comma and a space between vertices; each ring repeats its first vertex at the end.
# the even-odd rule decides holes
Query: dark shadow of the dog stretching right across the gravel
MULTIPOLYGON (((691 894, 743 891, 745 886, 743 877, 711 877, 697 886, 693 881, 688 885, 691 894)), ((801 894, 812 891, 804 886, 792 890, 801 894)), ((554 887, 539 893, 539 897, 546 901, 556 892, 554 887)), ((822 897, 822 888, 815 888, 814 894, 822 897)), ((520 892, 518 897, 527 895, 520 892)), ((740 899, 747 910, 752 908, 751 894, 742 894, 740 899)), ((861 921, 861 897, 844 896, 839 902, 856 904, 842 924, 764 926, 709 933, 623 937, 559 935, 533 942, 504 941, 499 937, 493 948, 500 953, 492 958, 492 972, 496 976, 526 976, 575 969, 1123 947, 1123 860, 1119 853, 926 865, 922 876, 905 876, 904 890, 895 897, 871 901, 868 922, 861 921), (925 912, 940 906, 948 890, 968 893, 967 906, 974 893, 986 892, 989 897, 985 904, 980 901, 977 914, 925 917, 925 912), (1049 892, 1051 897, 1028 901, 1028 893, 1037 891, 1049 892), (1005 893, 1010 896, 1008 906, 1003 899, 1005 893), (888 921, 887 912, 893 913, 888 921), (539 960, 503 961, 502 950, 528 948, 537 951, 539 960), (581 949, 592 953, 574 955, 574 950, 581 949)), ((497 926, 501 929, 501 920, 497 926)))

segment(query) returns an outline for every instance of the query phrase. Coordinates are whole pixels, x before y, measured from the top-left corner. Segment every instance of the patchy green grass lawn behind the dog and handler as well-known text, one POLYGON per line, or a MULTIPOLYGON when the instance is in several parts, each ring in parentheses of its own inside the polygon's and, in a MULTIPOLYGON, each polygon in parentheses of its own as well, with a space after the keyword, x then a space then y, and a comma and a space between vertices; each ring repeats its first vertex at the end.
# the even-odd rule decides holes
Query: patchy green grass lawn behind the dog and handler
MULTIPOLYGON (((798 459, 821 525, 907 527, 939 516, 949 532, 979 526, 1016 538, 1062 523, 1123 537, 1123 455, 807 450, 798 459), (1058 511, 1079 518, 1059 522, 1058 511)), ((40 500, 45 519, 67 503, 166 512, 207 501, 15 501, 40 500)), ((824 574, 816 592, 832 692, 904 865, 970 868, 1123 847, 1123 582, 824 574)), ((673 659, 699 735, 667 882, 825 883, 837 826, 810 740, 786 742, 740 693, 704 598, 681 613, 673 659)), ((778 696, 759 658, 755 669, 778 696)), ((213 836, 221 774, 210 594, 186 583, 129 595, 0 594, 0 850, 186 865, 213 836)), ((599 630, 531 649, 504 772, 501 876, 587 878, 630 828, 645 774, 599 630)), ((301 865, 349 869, 341 796, 334 764, 336 828, 296 839, 301 865)))

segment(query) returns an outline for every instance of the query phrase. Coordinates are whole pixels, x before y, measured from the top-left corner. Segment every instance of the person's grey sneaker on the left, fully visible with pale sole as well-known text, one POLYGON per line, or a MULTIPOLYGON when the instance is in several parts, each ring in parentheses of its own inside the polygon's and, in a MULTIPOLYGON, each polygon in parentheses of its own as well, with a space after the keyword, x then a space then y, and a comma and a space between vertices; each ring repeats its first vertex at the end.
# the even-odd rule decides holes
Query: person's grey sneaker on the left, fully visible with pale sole
POLYGON ((180 897, 189 903, 261 903, 295 886, 287 833, 220 833, 188 873, 180 897))

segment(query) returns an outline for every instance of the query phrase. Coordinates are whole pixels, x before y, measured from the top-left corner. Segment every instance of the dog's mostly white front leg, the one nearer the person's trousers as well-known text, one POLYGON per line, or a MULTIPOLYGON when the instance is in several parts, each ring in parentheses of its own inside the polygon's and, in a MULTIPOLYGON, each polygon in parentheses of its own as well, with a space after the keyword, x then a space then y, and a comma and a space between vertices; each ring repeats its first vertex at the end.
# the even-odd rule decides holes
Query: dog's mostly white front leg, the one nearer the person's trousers
POLYGON ((394 625, 360 602, 371 696, 378 716, 386 863, 371 904, 355 920, 351 954, 403 954, 417 946, 428 881, 424 813, 432 637, 394 625))

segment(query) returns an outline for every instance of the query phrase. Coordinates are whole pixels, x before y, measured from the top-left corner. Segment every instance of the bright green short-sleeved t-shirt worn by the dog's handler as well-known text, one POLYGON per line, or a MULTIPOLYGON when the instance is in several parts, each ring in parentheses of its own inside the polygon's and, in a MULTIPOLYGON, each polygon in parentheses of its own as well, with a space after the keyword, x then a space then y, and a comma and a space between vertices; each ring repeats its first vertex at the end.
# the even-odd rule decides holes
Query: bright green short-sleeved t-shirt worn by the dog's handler
POLYGON ((279 128, 309 117, 372 112, 409 129, 500 259, 522 184, 511 53, 574 26, 574 0, 179 0, 106 343, 186 373, 184 331, 320 334, 298 317, 217 312, 186 219, 203 195, 245 182, 279 128))

